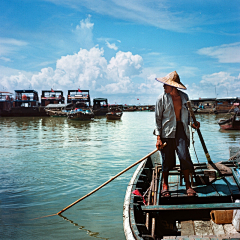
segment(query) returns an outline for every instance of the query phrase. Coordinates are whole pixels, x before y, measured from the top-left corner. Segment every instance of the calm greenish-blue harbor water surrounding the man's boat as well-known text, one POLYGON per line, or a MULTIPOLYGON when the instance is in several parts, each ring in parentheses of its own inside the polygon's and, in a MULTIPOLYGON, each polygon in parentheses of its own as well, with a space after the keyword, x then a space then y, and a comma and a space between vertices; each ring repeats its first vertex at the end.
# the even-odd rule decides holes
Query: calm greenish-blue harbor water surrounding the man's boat
MULTIPOLYGON (((223 115, 197 115, 214 162, 240 146, 239 131, 221 131, 223 115)), ((77 199, 155 149, 154 112, 122 120, 0 118, 1 239, 125 239, 123 201, 135 168, 58 215, 77 199), (35 219, 39 218, 39 219, 35 219)), ((195 148, 205 162, 197 133, 195 148)), ((191 156, 196 162, 192 145, 191 156)))

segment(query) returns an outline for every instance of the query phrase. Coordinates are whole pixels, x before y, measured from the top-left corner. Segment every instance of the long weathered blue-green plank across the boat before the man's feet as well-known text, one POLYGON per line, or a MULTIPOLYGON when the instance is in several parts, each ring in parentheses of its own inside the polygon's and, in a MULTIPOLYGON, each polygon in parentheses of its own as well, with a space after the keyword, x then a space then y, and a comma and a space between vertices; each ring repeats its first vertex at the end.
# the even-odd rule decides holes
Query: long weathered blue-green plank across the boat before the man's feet
POLYGON ((225 209, 240 209, 240 203, 208 203, 208 204, 179 204, 179 205, 150 205, 141 206, 143 211, 160 211, 160 210, 225 210, 225 209))

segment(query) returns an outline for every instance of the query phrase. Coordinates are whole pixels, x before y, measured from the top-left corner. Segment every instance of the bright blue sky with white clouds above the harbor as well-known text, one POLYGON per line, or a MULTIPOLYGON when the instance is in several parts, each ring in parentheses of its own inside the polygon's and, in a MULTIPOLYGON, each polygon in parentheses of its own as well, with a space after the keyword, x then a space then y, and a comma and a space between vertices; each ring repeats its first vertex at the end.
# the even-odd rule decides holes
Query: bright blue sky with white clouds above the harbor
POLYGON ((155 104, 176 70, 191 99, 240 97, 236 0, 2 0, 0 22, 0 91, 155 104))

